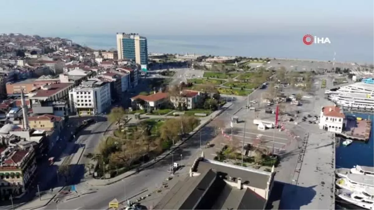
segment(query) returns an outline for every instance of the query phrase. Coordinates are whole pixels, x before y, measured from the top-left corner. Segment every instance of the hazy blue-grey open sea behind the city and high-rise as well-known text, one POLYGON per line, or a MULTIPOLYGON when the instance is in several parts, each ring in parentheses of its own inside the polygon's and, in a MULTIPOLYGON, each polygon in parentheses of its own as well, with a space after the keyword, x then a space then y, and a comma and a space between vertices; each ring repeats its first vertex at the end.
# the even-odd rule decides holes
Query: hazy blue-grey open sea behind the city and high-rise
MULTIPOLYGON (((93 49, 116 49, 116 34, 65 34, 83 46, 93 49)), ((305 45, 303 34, 251 35, 144 35, 150 53, 246 56, 263 58, 308 59, 320 61, 374 63, 372 37, 351 35, 328 37, 331 43, 305 45)))

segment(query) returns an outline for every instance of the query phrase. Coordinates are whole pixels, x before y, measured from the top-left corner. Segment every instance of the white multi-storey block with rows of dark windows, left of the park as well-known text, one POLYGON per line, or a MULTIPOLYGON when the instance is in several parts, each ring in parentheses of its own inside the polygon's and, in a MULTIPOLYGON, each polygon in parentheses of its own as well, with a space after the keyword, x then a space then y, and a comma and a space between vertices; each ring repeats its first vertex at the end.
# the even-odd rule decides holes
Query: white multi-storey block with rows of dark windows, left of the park
POLYGON ((111 105, 110 84, 105 81, 84 81, 69 91, 71 112, 79 115, 95 115, 111 105))

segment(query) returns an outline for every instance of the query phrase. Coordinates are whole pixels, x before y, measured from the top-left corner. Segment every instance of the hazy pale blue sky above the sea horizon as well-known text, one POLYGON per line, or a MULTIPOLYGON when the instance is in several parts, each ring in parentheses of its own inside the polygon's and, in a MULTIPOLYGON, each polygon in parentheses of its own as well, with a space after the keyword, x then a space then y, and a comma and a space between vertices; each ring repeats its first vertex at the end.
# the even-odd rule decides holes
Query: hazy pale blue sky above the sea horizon
POLYGON ((4 18, 0 33, 374 37, 370 0, 0 0, 0 4, 4 18))

